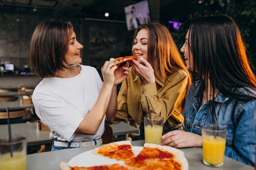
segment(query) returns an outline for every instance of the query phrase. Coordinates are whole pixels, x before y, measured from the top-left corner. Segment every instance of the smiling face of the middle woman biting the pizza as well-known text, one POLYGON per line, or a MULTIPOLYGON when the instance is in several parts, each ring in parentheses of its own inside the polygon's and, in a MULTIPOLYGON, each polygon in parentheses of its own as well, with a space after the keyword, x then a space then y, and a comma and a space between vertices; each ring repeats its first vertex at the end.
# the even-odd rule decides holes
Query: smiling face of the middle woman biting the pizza
POLYGON ((141 29, 134 39, 133 55, 138 55, 148 61, 148 30, 141 29))

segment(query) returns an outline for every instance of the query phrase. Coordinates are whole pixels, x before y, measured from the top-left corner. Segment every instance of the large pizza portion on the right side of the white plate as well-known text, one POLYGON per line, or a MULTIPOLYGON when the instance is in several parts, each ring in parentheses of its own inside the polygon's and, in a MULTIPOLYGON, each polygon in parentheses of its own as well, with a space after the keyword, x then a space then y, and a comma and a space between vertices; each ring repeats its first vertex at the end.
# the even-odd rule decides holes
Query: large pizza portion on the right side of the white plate
POLYGON ((124 163, 132 170, 188 170, 184 152, 156 144, 144 144, 139 155, 124 163))

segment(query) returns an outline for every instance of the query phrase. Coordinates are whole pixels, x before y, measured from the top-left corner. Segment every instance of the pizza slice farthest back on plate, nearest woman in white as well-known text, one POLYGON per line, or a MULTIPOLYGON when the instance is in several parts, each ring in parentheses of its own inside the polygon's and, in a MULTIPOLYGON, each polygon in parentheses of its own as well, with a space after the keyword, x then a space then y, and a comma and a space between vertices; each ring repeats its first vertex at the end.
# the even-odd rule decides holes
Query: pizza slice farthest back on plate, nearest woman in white
POLYGON ((116 159, 117 161, 129 161, 135 158, 130 141, 117 141, 106 144, 92 150, 92 153, 116 159))

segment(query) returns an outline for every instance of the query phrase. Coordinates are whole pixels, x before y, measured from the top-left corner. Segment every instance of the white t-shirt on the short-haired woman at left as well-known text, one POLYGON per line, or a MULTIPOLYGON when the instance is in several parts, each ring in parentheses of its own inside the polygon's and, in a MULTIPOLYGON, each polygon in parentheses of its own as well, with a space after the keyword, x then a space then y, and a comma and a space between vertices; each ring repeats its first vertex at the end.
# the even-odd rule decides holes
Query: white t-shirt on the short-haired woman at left
POLYGON ((81 65, 81 73, 72 78, 44 78, 36 86, 32 101, 36 115, 52 131, 50 138, 61 141, 100 138, 106 116, 95 135, 82 135, 75 130, 94 106, 102 86, 99 73, 91 66, 81 65))

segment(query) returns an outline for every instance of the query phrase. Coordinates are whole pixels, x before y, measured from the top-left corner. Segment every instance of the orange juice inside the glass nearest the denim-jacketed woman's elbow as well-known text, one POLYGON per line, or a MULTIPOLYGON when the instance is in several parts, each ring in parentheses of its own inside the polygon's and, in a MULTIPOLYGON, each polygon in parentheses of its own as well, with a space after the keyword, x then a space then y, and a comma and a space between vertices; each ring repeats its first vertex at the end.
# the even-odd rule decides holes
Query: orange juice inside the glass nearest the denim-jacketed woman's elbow
POLYGON ((226 140, 222 137, 207 136, 202 139, 203 159, 211 165, 220 165, 224 161, 226 140))

